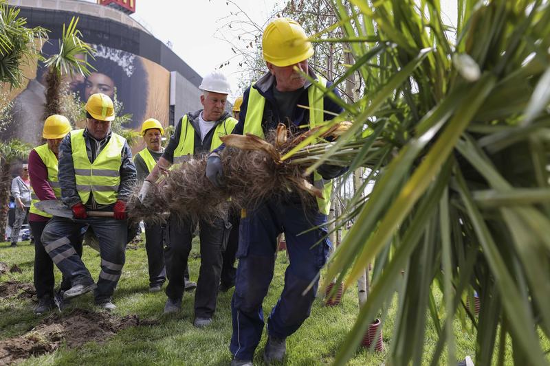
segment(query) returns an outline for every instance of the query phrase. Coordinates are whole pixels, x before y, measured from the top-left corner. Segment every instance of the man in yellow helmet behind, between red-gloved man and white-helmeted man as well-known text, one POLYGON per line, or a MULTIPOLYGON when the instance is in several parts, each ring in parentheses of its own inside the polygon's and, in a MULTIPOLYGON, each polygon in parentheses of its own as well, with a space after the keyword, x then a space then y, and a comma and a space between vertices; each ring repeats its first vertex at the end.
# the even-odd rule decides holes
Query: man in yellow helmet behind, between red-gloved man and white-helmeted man
MULTIPOLYGON (((154 118, 146 119, 142 124, 143 141, 146 146, 133 157, 137 181, 144 181, 151 173, 157 161, 162 157, 164 148, 161 145, 164 128, 154 118)), ((161 290, 166 281, 166 266, 164 265, 164 225, 154 222, 144 222, 145 225, 145 250, 147 251, 147 264, 149 270, 149 291, 156 293, 161 290)), ((185 268, 185 289, 192 290, 197 287, 195 282, 189 281, 189 271, 185 268)))

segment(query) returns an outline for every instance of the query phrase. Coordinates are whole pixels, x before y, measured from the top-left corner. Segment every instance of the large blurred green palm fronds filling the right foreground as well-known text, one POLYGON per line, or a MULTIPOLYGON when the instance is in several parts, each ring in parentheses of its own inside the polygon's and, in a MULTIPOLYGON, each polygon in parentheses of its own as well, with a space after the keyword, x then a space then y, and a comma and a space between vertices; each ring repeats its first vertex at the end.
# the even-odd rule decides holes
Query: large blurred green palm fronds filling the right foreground
POLYGON ((549 3, 458 0, 456 27, 445 25, 439 0, 351 3, 332 1, 344 36, 327 42, 349 44, 355 62, 336 85, 358 72, 362 98, 342 103, 329 126, 353 126, 310 171, 362 142, 350 172, 371 168, 373 191, 363 199, 360 188, 340 218, 355 224, 324 286, 334 277, 353 286, 369 262, 375 267, 336 365, 395 295, 391 365, 422 363, 428 316, 438 336, 432 365, 445 346, 456 364, 457 317, 476 329, 476 364, 502 365, 509 337, 514 363, 547 365, 549 3), (465 306, 474 291, 479 317, 465 306))

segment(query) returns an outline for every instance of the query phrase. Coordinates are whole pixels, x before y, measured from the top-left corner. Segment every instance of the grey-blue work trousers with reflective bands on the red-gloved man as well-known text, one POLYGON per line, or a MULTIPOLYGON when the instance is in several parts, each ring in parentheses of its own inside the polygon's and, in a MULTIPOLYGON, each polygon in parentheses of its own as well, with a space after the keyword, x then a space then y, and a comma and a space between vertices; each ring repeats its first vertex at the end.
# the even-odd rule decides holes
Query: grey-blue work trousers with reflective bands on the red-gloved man
POLYGON ((76 220, 54 217, 44 228, 42 244, 61 273, 71 280, 72 286, 90 284, 94 279, 69 240, 70 236, 79 233, 85 225, 89 225, 98 237, 101 271, 94 297, 96 303, 101 304, 111 299, 122 273, 128 221, 114 218, 89 217, 85 220, 76 220))

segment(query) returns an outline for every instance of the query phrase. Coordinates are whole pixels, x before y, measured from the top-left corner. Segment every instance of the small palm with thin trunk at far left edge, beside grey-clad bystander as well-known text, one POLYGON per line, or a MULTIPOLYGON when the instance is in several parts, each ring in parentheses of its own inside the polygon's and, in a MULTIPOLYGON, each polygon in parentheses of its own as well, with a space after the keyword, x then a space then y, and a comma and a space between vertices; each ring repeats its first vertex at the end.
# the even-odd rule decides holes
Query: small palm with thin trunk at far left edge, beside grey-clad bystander
POLYGON ((8 204, 12 177, 10 168, 14 161, 26 159, 29 156, 30 146, 13 139, 8 143, 0 143, 0 240, 5 238, 5 224, 8 220, 8 204))

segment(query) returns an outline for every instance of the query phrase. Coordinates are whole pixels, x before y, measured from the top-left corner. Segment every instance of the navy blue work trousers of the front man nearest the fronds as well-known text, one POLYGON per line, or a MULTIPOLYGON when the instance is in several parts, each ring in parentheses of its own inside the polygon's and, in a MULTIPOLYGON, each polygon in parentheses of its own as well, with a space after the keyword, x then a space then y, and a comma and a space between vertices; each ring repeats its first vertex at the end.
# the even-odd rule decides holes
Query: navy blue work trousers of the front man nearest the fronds
POLYGON ((267 332, 279 339, 300 328, 316 297, 318 274, 327 261, 330 241, 326 229, 313 229, 327 216, 296 203, 269 201, 241 217, 239 266, 231 301, 233 334, 230 351, 235 358, 252 359, 263 332, 262 302, 273 278, 277 236, 284 232, 289 265, 285 286, 267 321, 267 332), (318 243, 318 244, 316 244, 318 243), (306 291, 313 282, 313 286, 306 291))

